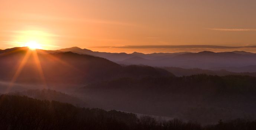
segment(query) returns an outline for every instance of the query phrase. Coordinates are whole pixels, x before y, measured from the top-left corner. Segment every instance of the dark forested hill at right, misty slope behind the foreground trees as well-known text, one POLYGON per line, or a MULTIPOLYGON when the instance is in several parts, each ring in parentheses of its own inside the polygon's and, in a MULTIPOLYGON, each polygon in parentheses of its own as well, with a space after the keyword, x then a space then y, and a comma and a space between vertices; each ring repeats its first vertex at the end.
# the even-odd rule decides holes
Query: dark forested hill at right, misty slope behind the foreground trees
POLYGON ((256 78, 250 76, 120 78, 87 85, 79 92, 97 107, 201 123, 256 117, 256 78))

